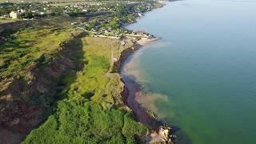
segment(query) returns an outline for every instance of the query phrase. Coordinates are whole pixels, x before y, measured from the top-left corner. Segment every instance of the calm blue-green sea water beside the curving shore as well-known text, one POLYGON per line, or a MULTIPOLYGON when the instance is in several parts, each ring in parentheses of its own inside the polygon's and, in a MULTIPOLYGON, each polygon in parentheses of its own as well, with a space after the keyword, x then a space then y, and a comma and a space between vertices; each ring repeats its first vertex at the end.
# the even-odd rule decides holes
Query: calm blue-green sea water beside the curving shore
POLYGON ((166 2, 128 28, 162 38, 130 70, 180 143, 256 143, 256 1, 166 2))

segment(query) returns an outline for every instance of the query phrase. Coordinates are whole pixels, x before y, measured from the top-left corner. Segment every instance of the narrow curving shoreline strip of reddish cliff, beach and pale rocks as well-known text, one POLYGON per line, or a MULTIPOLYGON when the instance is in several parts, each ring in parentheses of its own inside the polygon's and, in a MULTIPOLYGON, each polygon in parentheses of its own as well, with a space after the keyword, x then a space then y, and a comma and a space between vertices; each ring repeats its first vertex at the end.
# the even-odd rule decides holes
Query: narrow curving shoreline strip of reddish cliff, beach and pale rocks
POLYGON ((117 66, 118 74, 124 83, 124 90, 122 91, 123 102, 133 111, 135 118, 139 122, 150 128, 150 131, 142 136, 142 141, 144 143, 174 143, 176 135, 172 131, 172 126, 168 126, 166 123, 158 120, 151 110, 146 109, 136 100, 141 97, 141 85, 135 81, 133 76, 122 73, 123 66, 130 55, 158 39, 141 38, 134 42, 134 46, 122 51, 120 58, 114 63, 114 66, 117 66))

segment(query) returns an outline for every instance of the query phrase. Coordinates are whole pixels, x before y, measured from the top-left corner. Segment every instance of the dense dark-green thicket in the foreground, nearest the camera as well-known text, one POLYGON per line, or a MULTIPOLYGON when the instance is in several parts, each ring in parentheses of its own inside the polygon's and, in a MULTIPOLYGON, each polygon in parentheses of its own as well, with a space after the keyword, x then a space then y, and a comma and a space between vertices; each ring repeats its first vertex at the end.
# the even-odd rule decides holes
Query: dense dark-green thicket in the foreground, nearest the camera
POLYGON ((145 130, 123 110, 103 110, 95 102, 78 105, 66 100, 58 102, 58 114, 51 115, 22 143, 134 143, 134 134, 145 130))

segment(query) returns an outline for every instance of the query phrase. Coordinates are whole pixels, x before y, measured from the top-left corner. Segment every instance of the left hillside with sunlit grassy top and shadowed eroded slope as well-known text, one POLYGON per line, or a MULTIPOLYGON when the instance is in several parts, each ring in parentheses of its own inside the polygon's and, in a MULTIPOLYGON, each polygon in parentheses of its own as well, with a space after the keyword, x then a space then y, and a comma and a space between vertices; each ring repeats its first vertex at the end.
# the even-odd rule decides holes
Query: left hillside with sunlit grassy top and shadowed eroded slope
POLYGON ((54 27, 5 35, 0 49, 0 143, 18 143, 50 111, 62 78, 77 69, 81 32, 54 27))

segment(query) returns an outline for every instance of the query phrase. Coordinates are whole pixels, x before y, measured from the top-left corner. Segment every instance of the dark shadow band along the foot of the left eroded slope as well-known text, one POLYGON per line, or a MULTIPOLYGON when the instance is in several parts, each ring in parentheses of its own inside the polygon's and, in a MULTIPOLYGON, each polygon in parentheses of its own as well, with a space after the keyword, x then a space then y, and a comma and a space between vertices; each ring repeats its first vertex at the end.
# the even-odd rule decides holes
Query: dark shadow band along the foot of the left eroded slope
MULTIPOLYGON (((34 126, 33 129, 37 129, 38 126, 41 126, 42 123, 46 121, 46 119, 50 116, 50 114, 55 113, 55 110, 58 106, 58 101, 61 101, 62 99, 67 97, 66 92, 70 90, 70 86, 72 85, 72 83, 76 81, 77 72, 84 68, 86 61, 84 60, 84 57, 83 57, 84 52, 82 50, 83 48, 82 38, 85 36, 86 34, 82 34, 77 38, 74 38, 74 40, 72 40, 73 42, 68 42, 63 44, 63 46, 66 47, 65 49, 69 49, 69 50, 62 50, 58 54, 65 55, 66 57, 68 57, 68 59, 71 60, 71 63, 73 65, 71 66, 70 69, 66 70, 61 77, 51 79, 51 81, 55 83, 54 86, 51 87, 51 89, 54 89, 52 91, 54 91, 55 93, 49 94, 46 96, 45 98, 46 100, 44 99, 44 101, 42 101, 46 103, 42 103, 42 102, 39 103, 40 106, 45 105, 45 111, 40 116, 42 121, 37 126, 34 126), (52 97, 52 98, 48 100, 47 97, 48 98, 52 97)), ((66 58, 61 58, 61 59, 62 59, 61 62, 58 62, 57 64, 54 65, 54 66, 57 66, 54 69, 62 68, 62 66, 60 67, 58 66, 63 65, 63 63, 65 63, 64 61, 66 61, 66 58)), ((34 99, 32 101, 34 101, 34 99)))

